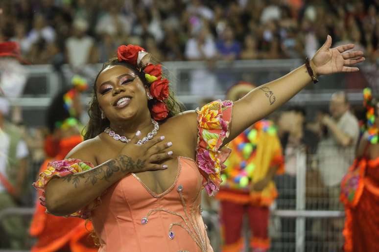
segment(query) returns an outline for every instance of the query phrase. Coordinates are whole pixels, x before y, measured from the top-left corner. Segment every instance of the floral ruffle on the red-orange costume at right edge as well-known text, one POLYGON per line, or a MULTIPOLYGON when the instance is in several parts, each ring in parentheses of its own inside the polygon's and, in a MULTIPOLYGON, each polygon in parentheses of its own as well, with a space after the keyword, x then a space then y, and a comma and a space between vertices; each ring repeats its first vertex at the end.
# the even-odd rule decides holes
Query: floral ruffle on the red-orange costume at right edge
POLYGON ((340 200, 345 206, 355 207, 362 195, 367 160, 355 160, 341 181, 340 200))

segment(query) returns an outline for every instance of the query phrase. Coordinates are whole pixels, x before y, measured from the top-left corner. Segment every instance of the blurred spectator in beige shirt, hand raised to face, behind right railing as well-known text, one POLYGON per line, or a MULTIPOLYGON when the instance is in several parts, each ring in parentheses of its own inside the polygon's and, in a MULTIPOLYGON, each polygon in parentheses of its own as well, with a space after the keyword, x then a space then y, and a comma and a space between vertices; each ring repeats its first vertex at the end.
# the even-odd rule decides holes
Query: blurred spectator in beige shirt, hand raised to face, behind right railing
MULTIPOLYGON (((347 94, 336 92, 329 107, 332 116, 324 115, 321 121, 327 135, 320 141, 317 150, 318 170, 328 193, 330 210, 343 210, 339 201, 340 183, 353 163, 359 137, 358 121, 349 109, 347 94)), ((342 220, 332 219, 319 226, 318 231, 326 241, 335 241, 340 246, 343 241, 336 231, 341 230, 343 225, 342 220)))

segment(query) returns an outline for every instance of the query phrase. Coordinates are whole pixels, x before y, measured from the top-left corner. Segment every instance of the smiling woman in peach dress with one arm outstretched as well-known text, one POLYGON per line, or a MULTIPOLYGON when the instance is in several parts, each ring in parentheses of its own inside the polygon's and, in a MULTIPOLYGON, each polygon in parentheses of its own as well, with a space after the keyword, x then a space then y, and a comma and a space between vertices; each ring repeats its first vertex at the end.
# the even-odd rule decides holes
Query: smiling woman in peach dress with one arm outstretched
POLYGON ((161 66, 140 46, 119 46, 96 77, 86 140, 34 183, 42 203, 55 215, 91 218, 101 252, 212 252, 200 190, 218 190, 230 153, 223 146, 317 74, 358 70, 346 66, 363 61, 362 52, 331 44, 328 36, 310 62, 234 105, 218 100, 183 113, 161 66))

